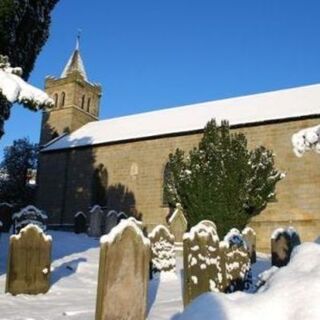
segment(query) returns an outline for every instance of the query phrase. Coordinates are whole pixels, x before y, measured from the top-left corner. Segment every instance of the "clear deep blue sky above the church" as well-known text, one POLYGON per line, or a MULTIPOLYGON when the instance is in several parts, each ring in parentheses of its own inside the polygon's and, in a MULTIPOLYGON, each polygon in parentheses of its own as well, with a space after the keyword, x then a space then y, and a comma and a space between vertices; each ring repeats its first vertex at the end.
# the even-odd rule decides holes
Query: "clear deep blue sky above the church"
MULTIPOLYGON (((29 82, 61 74, 81 29, 101 119, 320 83, 319 12, 319 0, 60 0, 29 82)), ((40 123, 14 106, 0 157, 38 142, 40 123)))

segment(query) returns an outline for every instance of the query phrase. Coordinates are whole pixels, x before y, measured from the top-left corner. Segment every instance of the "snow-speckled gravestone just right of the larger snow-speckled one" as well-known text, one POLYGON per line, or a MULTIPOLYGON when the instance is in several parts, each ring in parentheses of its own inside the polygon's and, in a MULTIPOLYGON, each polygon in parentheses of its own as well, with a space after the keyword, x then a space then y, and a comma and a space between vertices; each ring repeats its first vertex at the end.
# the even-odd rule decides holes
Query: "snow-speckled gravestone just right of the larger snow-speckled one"
POLYGON ((224 237, 220 249, 225 261, 224 291, 243 290, 246 281, 249 281, 251 264, 249 252, 240 231, 236 228, 231 229, 224 237))

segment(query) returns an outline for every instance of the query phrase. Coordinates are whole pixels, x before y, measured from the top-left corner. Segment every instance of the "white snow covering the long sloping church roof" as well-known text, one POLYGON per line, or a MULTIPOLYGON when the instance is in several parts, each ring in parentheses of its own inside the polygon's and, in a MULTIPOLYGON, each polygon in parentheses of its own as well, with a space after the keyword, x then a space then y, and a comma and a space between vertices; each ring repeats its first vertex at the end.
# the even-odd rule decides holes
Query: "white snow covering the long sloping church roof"
POLYGON ((43 150, 192 132, 212 118, 234 126, 309 115, 320 115, 320 84, 90 122, 43 150))

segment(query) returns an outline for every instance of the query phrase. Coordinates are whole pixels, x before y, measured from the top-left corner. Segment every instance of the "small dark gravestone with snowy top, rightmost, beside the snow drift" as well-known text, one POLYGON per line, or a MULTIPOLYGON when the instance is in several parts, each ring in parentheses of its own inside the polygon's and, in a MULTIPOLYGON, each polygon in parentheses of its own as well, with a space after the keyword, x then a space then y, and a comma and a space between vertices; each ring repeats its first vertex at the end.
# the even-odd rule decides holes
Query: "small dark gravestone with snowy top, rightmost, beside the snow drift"
POLYGON ((301 243, 297 231, 292 228, 278 228, 271 235, 271 264, 286 266, 293 248, 301 243))

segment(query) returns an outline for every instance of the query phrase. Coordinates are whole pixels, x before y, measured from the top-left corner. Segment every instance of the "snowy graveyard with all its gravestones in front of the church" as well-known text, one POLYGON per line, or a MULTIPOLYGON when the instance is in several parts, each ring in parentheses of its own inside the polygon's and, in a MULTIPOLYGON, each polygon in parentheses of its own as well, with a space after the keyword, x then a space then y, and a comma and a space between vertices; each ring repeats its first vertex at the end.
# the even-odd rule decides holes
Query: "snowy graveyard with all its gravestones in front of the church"
MULTIPOLYGON (((35 219, 37 212, 29 206, 15 218, 35 219)), ((146 234, 141 222, 123 213, 104 216, 96 206, 88 215, 88 233, 81 226, 84 213, 75 215, 76 232, 43 231, 35 221, 18 235, 1 233, 1 319, 320 316, 320 244, 301 244, 292 227, 275 230, 271 252, 260 253, 249 227, 232 229, 220 241, 215 224, 204 220, 185 230, 181 247, 175 230, 165 226, 146 234), (108 222, 101 225, 101 217, 108 222)), ((181 215, 179 208, 172 221, 178 236, 181 215)))

